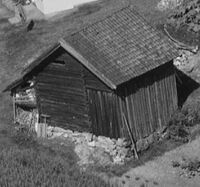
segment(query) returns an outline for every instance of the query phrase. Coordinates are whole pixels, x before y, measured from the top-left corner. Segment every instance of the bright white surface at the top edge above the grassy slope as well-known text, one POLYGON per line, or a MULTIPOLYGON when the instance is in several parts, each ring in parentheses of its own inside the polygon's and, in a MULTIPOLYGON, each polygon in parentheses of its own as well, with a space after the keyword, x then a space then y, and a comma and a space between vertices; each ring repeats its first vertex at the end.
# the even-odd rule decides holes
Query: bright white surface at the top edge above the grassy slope
POLYGON ((37 8, 44 14, 72 9, 74 6, 96 0, 34 0, 37 8))

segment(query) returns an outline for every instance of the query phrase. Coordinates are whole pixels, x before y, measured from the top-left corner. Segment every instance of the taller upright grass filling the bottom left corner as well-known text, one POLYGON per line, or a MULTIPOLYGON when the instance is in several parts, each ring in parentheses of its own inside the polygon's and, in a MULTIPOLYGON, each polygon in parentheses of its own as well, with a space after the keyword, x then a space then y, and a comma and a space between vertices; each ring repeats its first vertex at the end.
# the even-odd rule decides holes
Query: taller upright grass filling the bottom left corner
POLYGON ((63 158, 51 149, 14 146, 0 152, 1 186, 107 186, 104 181, 81 172, 72 149, 63 158))

